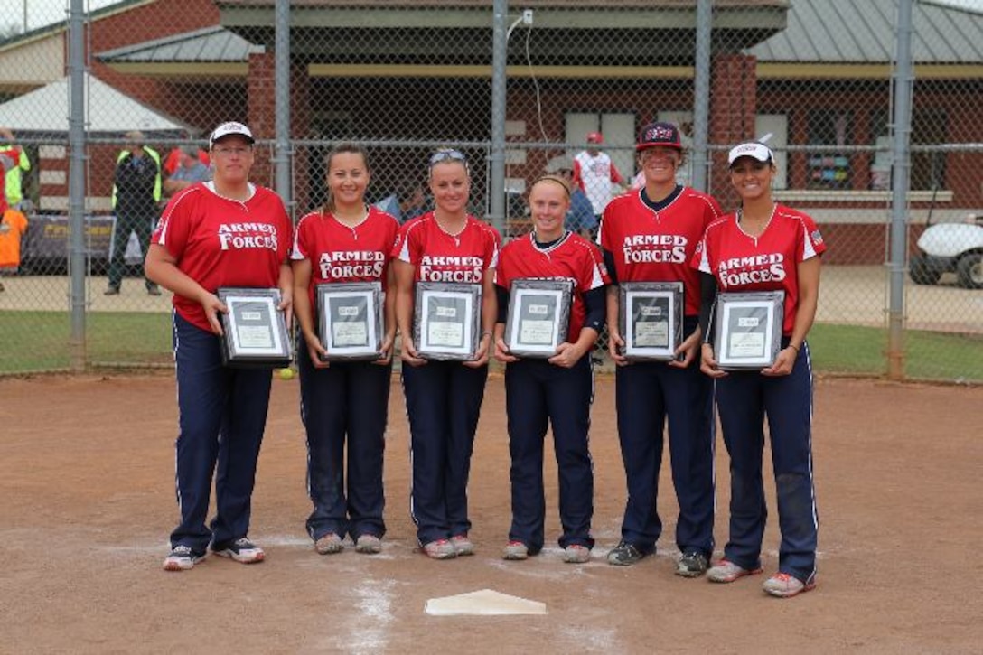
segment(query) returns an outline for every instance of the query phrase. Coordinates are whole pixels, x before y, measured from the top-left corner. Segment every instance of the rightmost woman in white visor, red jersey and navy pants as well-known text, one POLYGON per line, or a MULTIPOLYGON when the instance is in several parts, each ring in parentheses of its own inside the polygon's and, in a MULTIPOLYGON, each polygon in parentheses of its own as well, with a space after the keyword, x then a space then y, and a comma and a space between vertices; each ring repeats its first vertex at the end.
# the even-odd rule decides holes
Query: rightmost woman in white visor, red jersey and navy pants
POLYGON ((741 208, 707 227, 693 266, 706 284, 700 323, 704 373, 717 381, 723 444, 730 455, 730 536, 723 559, 707 574, 732 582, 760 573, 768 514, 762 481, 768 419, 778 496, 779 572, 764 590, 781 598, 816 585, 818 518, 812 472, 812 363, 806 335, 819 300, 823 237, 811 217, 772 197, 775 156, 750 142, 731 149, 730 183, 741 208), (781 351, 759 371, 724 372, 715 358, 710 316, 717 290, 783 291, 781 351))

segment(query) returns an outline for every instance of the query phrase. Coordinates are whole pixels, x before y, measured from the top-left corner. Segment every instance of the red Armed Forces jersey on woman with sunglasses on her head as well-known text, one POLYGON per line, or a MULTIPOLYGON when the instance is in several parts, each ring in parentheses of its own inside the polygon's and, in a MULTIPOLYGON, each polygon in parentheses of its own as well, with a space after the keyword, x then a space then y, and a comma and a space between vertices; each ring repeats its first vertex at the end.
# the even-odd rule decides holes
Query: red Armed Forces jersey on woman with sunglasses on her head
POLYGON ((498 264, 498 232, 469 215, 460 233, 443 231, 428 211, 403 224, 392 256, 412 264, 414 278, 425 282, 481 284, 484 273, 498 264))

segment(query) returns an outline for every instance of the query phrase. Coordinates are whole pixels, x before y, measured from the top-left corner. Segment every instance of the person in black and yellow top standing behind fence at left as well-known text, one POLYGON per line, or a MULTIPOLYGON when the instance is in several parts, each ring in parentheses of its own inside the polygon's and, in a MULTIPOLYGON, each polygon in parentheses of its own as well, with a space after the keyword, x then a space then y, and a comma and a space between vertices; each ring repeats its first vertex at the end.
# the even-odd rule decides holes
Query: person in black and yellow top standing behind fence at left
MULTIPOLYGON (((160 201, 160 155, 145 146, 142 132, 127 132, 126 148, 116 157, 113 175, 113 239, 109 254, 109 285, 105 295, 119 294, 126 268, 126 247, 130 233, 136 232, 144 255, 150 244, 150 232, 157 218, 160 201)), ((145 279, 146 292, 159 296, 160 289, 145 279)))

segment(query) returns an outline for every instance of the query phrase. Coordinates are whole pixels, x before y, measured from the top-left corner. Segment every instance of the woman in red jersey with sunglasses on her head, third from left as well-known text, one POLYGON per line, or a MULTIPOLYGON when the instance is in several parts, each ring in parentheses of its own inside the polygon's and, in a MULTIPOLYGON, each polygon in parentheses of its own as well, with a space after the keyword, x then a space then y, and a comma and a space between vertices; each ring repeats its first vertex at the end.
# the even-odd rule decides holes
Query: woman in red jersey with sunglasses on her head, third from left
POLYGON ((405 223, 392 252, 410 419, 411 510, 424 553, 445 560, 475 550, 468 538, 468 475, 497 317, 494 268, 501 239, 492 226, 467 212, 471 176, 460 151, 434 153, 430 187, 434 210, 405 223), (413 314, 416 283, 422 280, 480 285, 482 335, 474 360, 420 357, 413 341, 413 314))

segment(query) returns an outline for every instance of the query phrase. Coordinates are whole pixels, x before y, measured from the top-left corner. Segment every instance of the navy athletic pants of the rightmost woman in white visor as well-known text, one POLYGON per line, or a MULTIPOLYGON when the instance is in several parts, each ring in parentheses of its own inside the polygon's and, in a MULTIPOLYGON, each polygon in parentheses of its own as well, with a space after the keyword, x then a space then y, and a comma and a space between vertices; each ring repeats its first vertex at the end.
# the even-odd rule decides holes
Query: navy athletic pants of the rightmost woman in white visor
POLYGON ((818 518, 812 478, 812 365, 802 348, 788 376, 731 372, 717 381, 723 444, 730 454, 730 538, 723 557, 761 566, 768 508, 762 482, 768 418, 779 505, 779 570, 806 581, 816 571, 818 518))

